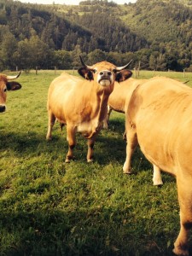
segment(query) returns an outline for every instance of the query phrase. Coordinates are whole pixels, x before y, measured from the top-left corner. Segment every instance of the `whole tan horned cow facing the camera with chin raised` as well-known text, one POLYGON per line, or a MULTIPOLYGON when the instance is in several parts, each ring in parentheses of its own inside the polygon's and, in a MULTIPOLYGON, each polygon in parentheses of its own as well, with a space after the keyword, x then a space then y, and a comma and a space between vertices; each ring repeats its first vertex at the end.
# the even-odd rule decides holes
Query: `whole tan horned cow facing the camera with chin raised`
POLYGON ((93 147, 96 135, 102 128, 102 121, 107 114, 108 96, 113 91, 114 81, 124 81, 131 77, 131 71, 116 67, 108 61, 97 62, 93 66, 84 64, 78 72, 79 77, 67 73, 54 79, 48 92, 49 124, 47 140, 55 119, 67 125, 68 152, 66 162, 73 160, 73 148, 76 145, 75 134, 80 132, 88 140, 87 161, 93 160, 93 147))

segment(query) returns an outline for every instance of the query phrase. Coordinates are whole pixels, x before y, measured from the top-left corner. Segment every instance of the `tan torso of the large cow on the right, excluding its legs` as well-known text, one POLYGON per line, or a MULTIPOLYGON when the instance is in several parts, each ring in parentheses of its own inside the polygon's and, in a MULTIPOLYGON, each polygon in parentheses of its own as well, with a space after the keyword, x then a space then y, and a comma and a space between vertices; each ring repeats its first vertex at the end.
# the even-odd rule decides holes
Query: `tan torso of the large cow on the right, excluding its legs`
POLYGON ((136 126, 143 154, 166 172, 176 175, 186 152, 192 166, 191 113, 192 90, 172 79, 150 79, 131 96, 128 119, 136 126))

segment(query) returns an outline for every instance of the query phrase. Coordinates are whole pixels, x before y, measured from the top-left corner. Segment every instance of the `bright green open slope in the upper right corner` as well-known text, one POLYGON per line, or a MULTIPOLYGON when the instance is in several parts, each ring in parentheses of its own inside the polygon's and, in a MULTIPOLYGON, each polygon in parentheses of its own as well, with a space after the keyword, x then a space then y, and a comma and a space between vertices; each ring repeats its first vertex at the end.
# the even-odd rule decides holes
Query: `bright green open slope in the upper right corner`
MULTIPOLYGON (((189 1, 188 1, 189 2, 189 1)), ((124 6, 122 19, 131 31, 149 42, 187 44, 192 38, 192 9, 183 1, 137 0, 132 6, 124 6)))

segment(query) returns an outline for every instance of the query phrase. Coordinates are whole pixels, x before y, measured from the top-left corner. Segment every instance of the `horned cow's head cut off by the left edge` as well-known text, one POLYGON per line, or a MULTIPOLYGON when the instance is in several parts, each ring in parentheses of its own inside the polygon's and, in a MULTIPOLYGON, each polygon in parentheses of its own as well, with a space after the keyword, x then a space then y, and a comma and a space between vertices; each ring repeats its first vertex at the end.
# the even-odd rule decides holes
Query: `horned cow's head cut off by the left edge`
POLYGON ((5 103, 7 98, 7 90, 19 90, 21 88, 19 83, 11 81, 17 79, 19 76, 20 73, 16 76, 6 76, 4 74, 0 74, 0 113, 4 112, 6 109, 5 103))

